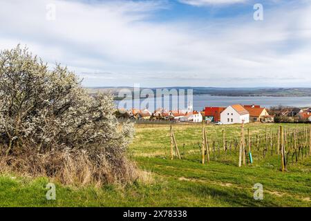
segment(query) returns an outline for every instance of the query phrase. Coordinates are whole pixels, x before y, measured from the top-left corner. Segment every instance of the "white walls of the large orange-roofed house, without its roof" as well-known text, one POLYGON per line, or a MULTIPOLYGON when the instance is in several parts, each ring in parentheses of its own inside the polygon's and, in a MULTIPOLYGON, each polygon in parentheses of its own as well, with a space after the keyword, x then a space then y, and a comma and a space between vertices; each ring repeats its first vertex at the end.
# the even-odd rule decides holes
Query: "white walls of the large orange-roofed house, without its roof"
POLYGON ((243 119, 245 124, 249 123, 249 114, 239 115, 232 106, 228 106, 225 111, 220 113, 220 122, 223 124, 242 124, 243 119))

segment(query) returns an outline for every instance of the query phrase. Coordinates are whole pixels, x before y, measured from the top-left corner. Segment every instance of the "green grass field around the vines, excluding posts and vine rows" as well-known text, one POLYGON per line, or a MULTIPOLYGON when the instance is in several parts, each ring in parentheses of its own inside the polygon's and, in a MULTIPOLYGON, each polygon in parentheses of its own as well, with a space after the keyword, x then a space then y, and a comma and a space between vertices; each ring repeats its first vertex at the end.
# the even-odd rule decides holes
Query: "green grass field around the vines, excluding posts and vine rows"
MULTIPOLYGON (((282 124, 290 128, 292 124, 282 124)), ((277 124, 249 124, 252 135, 275 132, 277 124)), ((297 125, 298 127, 303 124, 297 125)), ((240 136, 240 126, 207 126, 209 140, 240 136)), ((46 200, 46 177, 0 176, 0 206, 311 206, 311 157, 279 169, 279 155, 254 151, 252 165, 238 167, 234 149, 216 151, 209 164, 200 164, 201 125, 174 126, 182 160, 169 160, 169 126, 136 126, 129 155, 144 174, 131 185, 78 188, 57 185, 56 200, 46 200), (184 145, 185 144, 185 145, 184 145), (253 186, 263 184, 263 200, 254 200, 253 186)))

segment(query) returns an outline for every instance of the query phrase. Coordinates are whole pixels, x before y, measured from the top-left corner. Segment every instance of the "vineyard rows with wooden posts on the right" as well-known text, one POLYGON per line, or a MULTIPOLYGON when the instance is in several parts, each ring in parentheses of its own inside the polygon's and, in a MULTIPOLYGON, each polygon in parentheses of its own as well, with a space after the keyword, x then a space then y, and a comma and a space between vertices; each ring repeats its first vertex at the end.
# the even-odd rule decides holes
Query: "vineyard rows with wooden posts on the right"
MULTIPOLYGON (((170 158, 174 157, 182 159, 176 141, 172 126, 170 127, 171 136, 171 151, 170 158)), ((192 146, 196 144, 192 143, 192 146)), ((261 160, 266 155, 281 156, 281 170, 285 171, 286 165, 290 162, 298 162, 303 160, 311 153, 311 126, 310 124, 299 126, 265 126, 264 133, 252 133, 250 128, 247 128, 245 133, 245 125, 241 126, 240 137, 226 136, 225 128, 222 129, 221 135, 209 139, 208 131, 205 126, 202 126, 202 139, 198 141, 198 150, 201 153, 200 161, 202 164, 210 160, 234 160, 238 155, 238 166, 252 164, 253 159, 261 160), (243 161, 243 162, 242 162, 243 161)), ((182 144, 185 149, 185 143, 182 144)), ((183 153, 185 155, 185 153, 183 153)))

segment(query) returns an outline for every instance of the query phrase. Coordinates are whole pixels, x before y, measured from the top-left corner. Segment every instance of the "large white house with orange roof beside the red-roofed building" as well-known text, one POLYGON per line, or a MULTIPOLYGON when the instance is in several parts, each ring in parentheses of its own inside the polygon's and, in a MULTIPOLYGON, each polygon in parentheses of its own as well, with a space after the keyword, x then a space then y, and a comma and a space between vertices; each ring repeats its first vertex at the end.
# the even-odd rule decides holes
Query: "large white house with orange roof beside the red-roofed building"
POLYGON ((243 121, 249 123, 249 112, 241 104, 228 106, 220 113, 220 122, 223 124, 242 124, 243 121))

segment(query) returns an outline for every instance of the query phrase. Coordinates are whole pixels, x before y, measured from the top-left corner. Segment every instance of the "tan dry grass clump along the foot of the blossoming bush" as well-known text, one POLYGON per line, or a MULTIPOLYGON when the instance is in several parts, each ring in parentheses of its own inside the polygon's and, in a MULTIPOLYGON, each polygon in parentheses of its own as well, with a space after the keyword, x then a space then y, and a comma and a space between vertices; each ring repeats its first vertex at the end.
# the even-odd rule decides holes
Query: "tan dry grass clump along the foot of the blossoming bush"
MULTIPOLYGON (((86 151, 52 151, 38 154, 23 148, 14 155, 1 153, 0 173, 17 173, 26 177, 50 177, 62 184, 102 186, 127 184, 138 177, 136 166, 120 155, 109 161, 104 155, 92 156, 86 151)), ((142 180, 147 180, 142 175, 142 180)))

